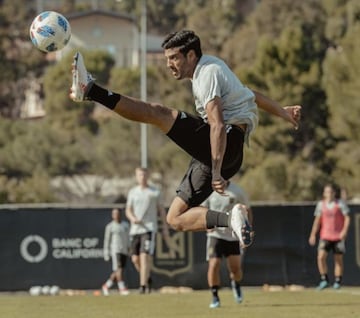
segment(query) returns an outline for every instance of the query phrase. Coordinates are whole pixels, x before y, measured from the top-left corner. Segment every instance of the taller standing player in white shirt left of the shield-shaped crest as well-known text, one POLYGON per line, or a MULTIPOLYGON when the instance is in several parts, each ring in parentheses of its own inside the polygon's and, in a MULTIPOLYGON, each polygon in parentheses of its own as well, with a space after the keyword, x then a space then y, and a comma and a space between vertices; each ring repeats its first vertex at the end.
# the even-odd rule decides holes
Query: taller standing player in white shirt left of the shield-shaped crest
POLYGON ((151 292, 150 267, 158 231, 158 215, 163 222, 163 234, 169 235, 166 212, 159 189, 148 184, 148 170, 135 170, 138 185, 131 188, 126 201, 126 216, 130 220, 131 260, 140 275, 141 294, 151 292))

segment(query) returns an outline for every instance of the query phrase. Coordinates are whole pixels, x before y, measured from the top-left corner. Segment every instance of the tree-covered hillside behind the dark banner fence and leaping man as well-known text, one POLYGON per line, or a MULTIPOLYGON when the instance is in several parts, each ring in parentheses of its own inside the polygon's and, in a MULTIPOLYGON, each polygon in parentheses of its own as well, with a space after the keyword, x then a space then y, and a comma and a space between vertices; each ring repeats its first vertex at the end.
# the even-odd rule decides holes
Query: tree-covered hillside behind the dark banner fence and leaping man
MULTIPOLYGON (((65 14, 90 8, 84 1, 58 2, 54 9, 65 14)), ((100 3, 135 17, 141 11, 140 1, 100 3)), ((313 201, 329 181, 360 198, 360 2, 252 3, 148 0, 148 30, 165 35, 194 29, 203 51, 223 58, 247 86, 284 106, 303 105, 296 131, 260 111, 234 178, 252 200, 313 201)), ((123 201, 126 186, 106 198, 103 186, 106 180, 133 178, 140 164, 139 124, 110 112, 97 115, 91 102, 72 102, 72 54, 48 61, 28 37, 35 8, 20 0, 0 4, 0 203, 123 201), (21 105, 32 81, 41 83, 46 116, 25 120, 21 105), (97 181, 88 184, 89 176, 97 181), (58 180, 92 190, 79 195, 58 180)), ((101 84, 140 97, 139 70, 115 67, 104 51, 83 54, 101 84)), ((165 65, 148 65, 147 76, 148 100, 193 112, 189 82, 174 80, 165 65)), ((148 143, 149 168, 168 203, 189 157, 152 127, 148 143)))

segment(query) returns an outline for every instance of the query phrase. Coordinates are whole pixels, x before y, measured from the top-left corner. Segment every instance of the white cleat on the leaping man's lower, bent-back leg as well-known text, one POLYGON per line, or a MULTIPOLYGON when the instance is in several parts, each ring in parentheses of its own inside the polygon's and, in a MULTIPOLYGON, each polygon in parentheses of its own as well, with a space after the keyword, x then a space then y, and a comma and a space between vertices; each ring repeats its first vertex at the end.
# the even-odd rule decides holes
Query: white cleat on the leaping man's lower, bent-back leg
POLYGON ((231 210, 230 227, 239 239, 241 247, 250 246, 254 238, 247 214, 246 207, 242 204, 236 204, 231 210))

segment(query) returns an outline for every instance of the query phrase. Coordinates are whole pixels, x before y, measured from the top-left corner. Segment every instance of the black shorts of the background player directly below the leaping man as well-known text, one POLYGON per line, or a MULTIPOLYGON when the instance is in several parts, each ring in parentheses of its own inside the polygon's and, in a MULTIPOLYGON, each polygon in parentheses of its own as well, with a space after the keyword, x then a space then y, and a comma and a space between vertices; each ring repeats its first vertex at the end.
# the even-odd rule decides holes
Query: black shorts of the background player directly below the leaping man
POLYGON ((217 237, 207 237, 206 259, 222 258, 230 255, 241 255, 242 250, 239 241, 226 241, 217 237))

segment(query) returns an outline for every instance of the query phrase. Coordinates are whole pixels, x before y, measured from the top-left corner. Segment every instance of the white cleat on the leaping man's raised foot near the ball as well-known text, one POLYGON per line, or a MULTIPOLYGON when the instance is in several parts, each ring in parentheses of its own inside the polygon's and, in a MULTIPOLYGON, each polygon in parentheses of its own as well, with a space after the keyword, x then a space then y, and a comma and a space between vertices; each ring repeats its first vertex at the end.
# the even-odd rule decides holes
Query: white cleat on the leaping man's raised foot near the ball
POLYGON ((86 70, 84 59, 79 52, 74 55, 72 63, 73 82, 71 85, 70 98, 75 102, 87 99, 87 93, 94 84, 94 78, 86 70))

